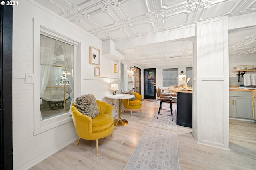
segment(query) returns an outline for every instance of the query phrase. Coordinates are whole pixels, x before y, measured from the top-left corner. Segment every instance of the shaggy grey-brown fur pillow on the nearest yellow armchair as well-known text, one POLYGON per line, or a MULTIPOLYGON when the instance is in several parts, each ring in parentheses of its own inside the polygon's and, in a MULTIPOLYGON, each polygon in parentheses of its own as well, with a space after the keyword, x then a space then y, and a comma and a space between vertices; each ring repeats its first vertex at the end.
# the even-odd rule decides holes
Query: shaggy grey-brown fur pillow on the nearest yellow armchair
POLYGON ((93 94, 77 97, 74 100, 74 105, 83 115, 87 115, 92 119, 100 113, 93 94))

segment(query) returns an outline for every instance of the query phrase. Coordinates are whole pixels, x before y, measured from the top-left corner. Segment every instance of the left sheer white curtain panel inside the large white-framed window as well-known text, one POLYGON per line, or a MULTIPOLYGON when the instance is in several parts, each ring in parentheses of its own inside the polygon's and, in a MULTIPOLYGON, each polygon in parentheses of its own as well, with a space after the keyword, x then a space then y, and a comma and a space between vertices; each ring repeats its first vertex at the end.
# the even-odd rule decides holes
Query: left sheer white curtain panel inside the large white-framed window
MULTIPOLYGON (((55 40, 40 35, 40 97, 44 94, 54 59, 55 40)), ((42 103, 42 100, 41 100, 42 103)), ((40 115, 42 120, 42 115, 40 115)))

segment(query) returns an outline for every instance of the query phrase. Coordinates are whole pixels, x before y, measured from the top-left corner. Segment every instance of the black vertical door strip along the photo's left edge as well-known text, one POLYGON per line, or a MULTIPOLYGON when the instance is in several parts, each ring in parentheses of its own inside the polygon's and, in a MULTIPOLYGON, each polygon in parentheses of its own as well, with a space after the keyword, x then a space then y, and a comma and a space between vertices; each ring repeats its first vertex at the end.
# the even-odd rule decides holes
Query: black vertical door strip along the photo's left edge
POLYGON ((12 170, 12 6, 0 6, 0 21, 0 169, 12 170))

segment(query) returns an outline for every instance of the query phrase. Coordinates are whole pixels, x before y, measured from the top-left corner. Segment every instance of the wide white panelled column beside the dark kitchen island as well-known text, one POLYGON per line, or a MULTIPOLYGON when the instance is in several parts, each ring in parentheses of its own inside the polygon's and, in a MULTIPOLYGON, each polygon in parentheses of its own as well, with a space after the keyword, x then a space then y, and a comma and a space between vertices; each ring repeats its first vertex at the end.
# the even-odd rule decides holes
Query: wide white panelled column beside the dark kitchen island
POLYGON ((193 68, 193 136, 228 149, 228 17, 196 24, 193 68))

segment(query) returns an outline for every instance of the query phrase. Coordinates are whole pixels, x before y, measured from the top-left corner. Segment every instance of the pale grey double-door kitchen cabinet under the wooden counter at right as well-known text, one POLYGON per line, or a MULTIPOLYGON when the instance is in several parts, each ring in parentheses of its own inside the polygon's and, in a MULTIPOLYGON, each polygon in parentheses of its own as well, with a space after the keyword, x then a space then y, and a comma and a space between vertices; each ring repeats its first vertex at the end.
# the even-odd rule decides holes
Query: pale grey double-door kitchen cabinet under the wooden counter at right
POLYGON ((229 92, 229 116, 252 119, 252 93, 245 91, 229 92))

